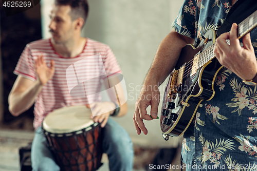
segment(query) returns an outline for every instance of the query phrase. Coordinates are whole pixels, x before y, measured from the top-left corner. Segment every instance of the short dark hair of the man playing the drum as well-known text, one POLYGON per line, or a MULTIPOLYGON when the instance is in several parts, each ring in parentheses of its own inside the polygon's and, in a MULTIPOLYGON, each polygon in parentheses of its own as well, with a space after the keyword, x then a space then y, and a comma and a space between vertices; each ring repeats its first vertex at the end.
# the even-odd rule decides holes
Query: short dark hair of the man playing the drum
POLYGON ((88 14, 88 3, 87 0, 56 0, 55 5, 69 5, 71 8, 70 16, 71 20, 74 21, 78 17, 82 17, 86 22, 88 14))

